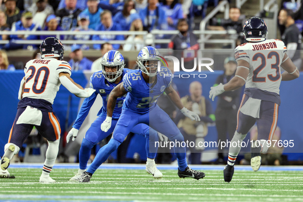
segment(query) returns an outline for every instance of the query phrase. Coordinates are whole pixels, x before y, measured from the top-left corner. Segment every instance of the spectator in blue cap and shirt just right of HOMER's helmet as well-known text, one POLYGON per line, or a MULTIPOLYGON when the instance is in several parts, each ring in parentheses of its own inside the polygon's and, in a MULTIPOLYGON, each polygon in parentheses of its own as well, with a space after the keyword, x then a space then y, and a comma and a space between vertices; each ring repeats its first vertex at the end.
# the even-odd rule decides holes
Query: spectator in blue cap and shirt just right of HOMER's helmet
POLYGON ((81 46, 73 45, 71 47, 71 53, 69 64, 72 68, 72 71, 83 71, 83 70, 90 70, 93 62, 88 58, 83 56, 83 52, 81 50, 81 46))

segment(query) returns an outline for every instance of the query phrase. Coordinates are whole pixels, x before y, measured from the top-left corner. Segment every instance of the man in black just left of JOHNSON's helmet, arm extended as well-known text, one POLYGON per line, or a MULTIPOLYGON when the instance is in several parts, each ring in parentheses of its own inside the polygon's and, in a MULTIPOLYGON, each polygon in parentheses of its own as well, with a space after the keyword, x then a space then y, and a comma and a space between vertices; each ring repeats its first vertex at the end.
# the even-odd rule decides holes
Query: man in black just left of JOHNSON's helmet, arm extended
POLYGON ((231 7, 229 9, 229 19, 212 18, 210 21, 210 30, 236 30, 237 34, 234 37, 236 40, 236 46, 245 43, 243 35, 243 22, 240 20, 241 11, 237 7, 231 7))

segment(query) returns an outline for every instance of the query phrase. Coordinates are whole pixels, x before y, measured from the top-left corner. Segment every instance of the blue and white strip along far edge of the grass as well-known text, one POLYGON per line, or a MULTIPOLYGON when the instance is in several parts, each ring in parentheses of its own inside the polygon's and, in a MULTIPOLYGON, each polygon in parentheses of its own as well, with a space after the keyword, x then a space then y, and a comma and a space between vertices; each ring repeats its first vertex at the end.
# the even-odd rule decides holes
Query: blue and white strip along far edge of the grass
MULTIPOLYGON (((41 168, 43 164, 11 164, 10 168, 41 168)), ((145 164, 103 164, 99 169, 145 170, 145 164)), ((221 170, 225 165, 190 165, 194 170, 221 170)), ((55 164, 54 169, 79 169, 78 164, 55 164)), ((177 170, 177 165, 157 165, 159 170, 177 170)), ((252 171, 250 166, 235 166, 236 170, 252 171)), ((261 166, 261 171, 303 171, 303 166, 261 166)))

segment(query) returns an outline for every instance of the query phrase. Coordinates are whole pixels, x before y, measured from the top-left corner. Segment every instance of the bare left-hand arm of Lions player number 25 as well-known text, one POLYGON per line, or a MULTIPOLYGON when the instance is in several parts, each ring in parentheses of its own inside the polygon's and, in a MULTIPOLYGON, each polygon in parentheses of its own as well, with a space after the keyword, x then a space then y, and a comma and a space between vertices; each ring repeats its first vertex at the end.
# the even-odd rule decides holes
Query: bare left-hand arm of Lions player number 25
POLYGON ((117 85, 117 87, 115 87, 111 91, 111 93, 109 94, 109 97, 108 97, 108 102, 107 102, 107 116, 112 117, 113 111, 116 106, 117 98, 122 97, 126 93, 127 93, 127 91, 125 90, 123 83, 120 83, 119 85, 117 85))

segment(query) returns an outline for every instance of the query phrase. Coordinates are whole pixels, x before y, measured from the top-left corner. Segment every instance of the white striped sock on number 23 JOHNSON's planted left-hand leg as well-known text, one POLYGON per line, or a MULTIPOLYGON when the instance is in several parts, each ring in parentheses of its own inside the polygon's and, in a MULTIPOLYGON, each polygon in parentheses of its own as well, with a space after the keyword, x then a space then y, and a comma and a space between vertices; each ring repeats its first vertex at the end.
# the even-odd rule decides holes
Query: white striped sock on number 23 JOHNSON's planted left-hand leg
POLYGON ((230 142, 228 160, 227 160, 228 165, 233 166, 235 164, 236 158, 241 150, 241 143, 245 137, 246 134, 243 135, 241 133, 238 133, 237 131, 235 132, 230 142))

